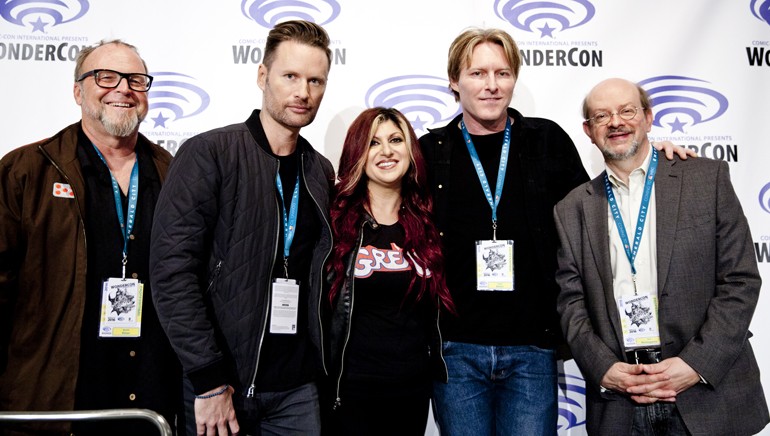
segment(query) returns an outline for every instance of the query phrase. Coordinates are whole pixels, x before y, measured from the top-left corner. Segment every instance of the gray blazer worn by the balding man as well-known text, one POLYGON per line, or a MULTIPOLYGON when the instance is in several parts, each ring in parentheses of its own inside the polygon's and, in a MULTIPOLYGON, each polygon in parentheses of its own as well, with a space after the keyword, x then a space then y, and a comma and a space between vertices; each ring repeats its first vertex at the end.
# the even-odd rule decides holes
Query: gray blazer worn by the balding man
MULTIPOLYGON (((599 389, 610 366, 625 361, 603 177, 554 209, 558 310, 586 380, 587 431, 620 435, 631 433, 635 403, 599 389)), ((748 330, 761 279, 727 163, 660 159, 655 196, 663 358, 681 357, 708 381, 677 395, 679 412, 693 435, 755 434, 770 420, 748 330)))

